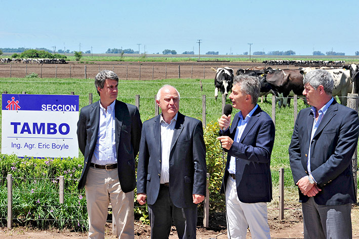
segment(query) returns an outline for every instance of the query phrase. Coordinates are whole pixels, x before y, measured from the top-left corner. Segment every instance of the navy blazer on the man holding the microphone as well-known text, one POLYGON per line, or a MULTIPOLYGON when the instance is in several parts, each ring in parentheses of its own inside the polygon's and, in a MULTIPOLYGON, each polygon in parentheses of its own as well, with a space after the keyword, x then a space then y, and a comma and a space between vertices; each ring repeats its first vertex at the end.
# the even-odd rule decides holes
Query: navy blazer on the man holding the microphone
MULTIPOLYGON (((239 112, 234 115, 230 130, 223 132, 234 140, 239 122, 239 112)), ((273 149, 275 128, 270 116, 259 106, 253 112, 240 142, 233 142, 227 154, 221 192, 224 193, 229 177, 230 157, 235 157, 235 183, 238 198, 243 203, 270 202, 272 177, 270 155, 273 149)))

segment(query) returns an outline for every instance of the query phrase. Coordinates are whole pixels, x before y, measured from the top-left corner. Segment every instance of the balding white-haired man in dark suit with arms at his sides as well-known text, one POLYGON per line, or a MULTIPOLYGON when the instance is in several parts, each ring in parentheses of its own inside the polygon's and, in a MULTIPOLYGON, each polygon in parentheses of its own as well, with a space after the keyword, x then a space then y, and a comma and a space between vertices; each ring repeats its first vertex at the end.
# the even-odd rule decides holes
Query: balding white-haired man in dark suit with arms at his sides
POLYGON ((196 238, 197 205, 206 193, 202 122, 179 110, 169 85, 156 96, 162 114, 143 123, 137 168, 137 201, 146 203, 151 238, 168 238, 172 220, 179 238, 196 238))

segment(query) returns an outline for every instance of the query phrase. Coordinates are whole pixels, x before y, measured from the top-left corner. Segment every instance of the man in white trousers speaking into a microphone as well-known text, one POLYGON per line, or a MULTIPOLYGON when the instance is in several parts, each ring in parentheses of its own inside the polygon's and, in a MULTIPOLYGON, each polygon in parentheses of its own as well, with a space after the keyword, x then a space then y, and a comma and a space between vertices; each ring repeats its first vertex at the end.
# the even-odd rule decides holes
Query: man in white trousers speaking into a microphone
POLYGON ((218 119, 218 137, 228 152, 221 192, 226 195, 228 238, 246 238, 249 226, 252 238, 270 238, 267 202, 272 199, 270 155, 275 129, 270 116, 257 100, 257 77, 237 75, 229 99, 236 113, 218 119), (229 130, 228 130, 229 129, 229 130))

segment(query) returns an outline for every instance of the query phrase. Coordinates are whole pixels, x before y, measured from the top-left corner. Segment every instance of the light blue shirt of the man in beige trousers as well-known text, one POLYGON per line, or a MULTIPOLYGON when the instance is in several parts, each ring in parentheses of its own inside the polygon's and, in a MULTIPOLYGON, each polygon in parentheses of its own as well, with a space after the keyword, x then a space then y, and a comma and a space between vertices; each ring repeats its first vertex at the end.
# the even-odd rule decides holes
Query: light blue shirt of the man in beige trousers
POLYGON ((107 106, 107 110, 100 104, 100 122, 97 134, 97 141, 92 155, 91 163, 108 165, 117 163, 114 105, 107 106))

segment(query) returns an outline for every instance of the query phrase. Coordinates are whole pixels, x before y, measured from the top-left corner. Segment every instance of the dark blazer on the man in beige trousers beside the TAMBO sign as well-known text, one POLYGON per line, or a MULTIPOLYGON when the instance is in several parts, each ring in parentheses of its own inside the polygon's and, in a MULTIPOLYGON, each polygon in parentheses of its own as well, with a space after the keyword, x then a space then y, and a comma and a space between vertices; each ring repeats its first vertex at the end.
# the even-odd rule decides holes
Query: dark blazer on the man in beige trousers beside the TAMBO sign
MULTIPOLYGON (((142 122, 136 106, 116 100, 115 140, 119 183, 124 192, 135 189, 135 157, 139 150, 142 122)), ((85 156, 84 169, 78 182, 78 189, 85 186, 95 150, 100 120, 99 101, 81 109, 77 122, 78 147, 85 156)))

